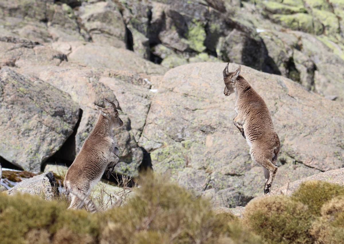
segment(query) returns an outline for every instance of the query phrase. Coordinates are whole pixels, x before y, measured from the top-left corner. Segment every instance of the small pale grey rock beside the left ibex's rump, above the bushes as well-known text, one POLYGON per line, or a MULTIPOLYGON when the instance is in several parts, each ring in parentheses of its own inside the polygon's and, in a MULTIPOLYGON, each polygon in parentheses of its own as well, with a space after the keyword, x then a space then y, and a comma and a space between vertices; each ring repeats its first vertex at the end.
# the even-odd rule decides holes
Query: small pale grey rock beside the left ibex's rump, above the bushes
POLYGON ((9 195, 14 195, 16 192, 28 192, 47 200, 53 200, 56 194, 59 194, 57 182, 52 172, 45 172, 23 180, 6 191, 9 195))

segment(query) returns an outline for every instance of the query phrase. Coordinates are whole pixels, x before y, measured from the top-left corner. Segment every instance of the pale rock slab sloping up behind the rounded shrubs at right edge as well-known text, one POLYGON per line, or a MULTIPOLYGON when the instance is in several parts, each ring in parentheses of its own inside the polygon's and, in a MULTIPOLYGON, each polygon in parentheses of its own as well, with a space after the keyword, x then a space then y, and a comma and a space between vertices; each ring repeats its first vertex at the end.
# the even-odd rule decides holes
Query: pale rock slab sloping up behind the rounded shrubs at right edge
POLYGON ((291 183, 286 183, 284 186, 273 191, 272 193, 283 193, 290 196, 295 191, 295 189, 297 189, 297 187, 301 184, 301 182, 306 180, 323 180, 338 185, 344 185, 344 168, 329 170, 306 178, 301 178, 291 183))

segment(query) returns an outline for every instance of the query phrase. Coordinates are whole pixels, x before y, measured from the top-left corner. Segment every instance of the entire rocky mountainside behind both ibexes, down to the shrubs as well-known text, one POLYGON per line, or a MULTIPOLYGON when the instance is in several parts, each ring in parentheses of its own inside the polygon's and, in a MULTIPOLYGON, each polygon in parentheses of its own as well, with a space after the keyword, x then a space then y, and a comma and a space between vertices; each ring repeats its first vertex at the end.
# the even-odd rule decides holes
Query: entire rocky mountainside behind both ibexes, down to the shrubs
POLYGON ((124 122, 118 173, 152 165, 216 206, 244 205, 262 194, 264 175, 231 121, 234 95, 223 95, 222 61, 231 61, 281 139, 274 189, 341 168, 342 9, 334 0, 1 1, 0 159, 34 172, 71 164, 106 97, 124 122))

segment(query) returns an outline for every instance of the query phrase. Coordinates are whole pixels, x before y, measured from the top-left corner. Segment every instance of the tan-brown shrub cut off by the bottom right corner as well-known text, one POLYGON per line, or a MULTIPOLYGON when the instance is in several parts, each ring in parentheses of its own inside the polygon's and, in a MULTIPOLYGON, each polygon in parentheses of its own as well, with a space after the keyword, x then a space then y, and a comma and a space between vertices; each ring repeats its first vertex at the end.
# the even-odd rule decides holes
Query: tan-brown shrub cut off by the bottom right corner
POLYGON ((344 196, 336 197, 321 208, 321 217, 310 230, 316 244, 344 242, 344 196))

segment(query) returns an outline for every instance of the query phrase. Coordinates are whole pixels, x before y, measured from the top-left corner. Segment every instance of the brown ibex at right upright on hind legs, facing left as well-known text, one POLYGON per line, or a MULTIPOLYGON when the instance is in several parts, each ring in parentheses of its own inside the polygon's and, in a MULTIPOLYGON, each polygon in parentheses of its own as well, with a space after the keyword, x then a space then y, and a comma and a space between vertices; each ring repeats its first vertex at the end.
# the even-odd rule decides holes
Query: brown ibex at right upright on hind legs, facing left
POLYGON ((234 72, 228 72, 227 63, 223 70, 225 96, 235 93, 237 115, 233 119, 235 126, 246 139, 250 155, 255 163, 264 167, 266 178, 264 193, 271 190, 272 181, 277 172, 276 160, 280 151, 280 141, 273 128, 268 107, 247 80, 240 75, 241 66, 234 72))

